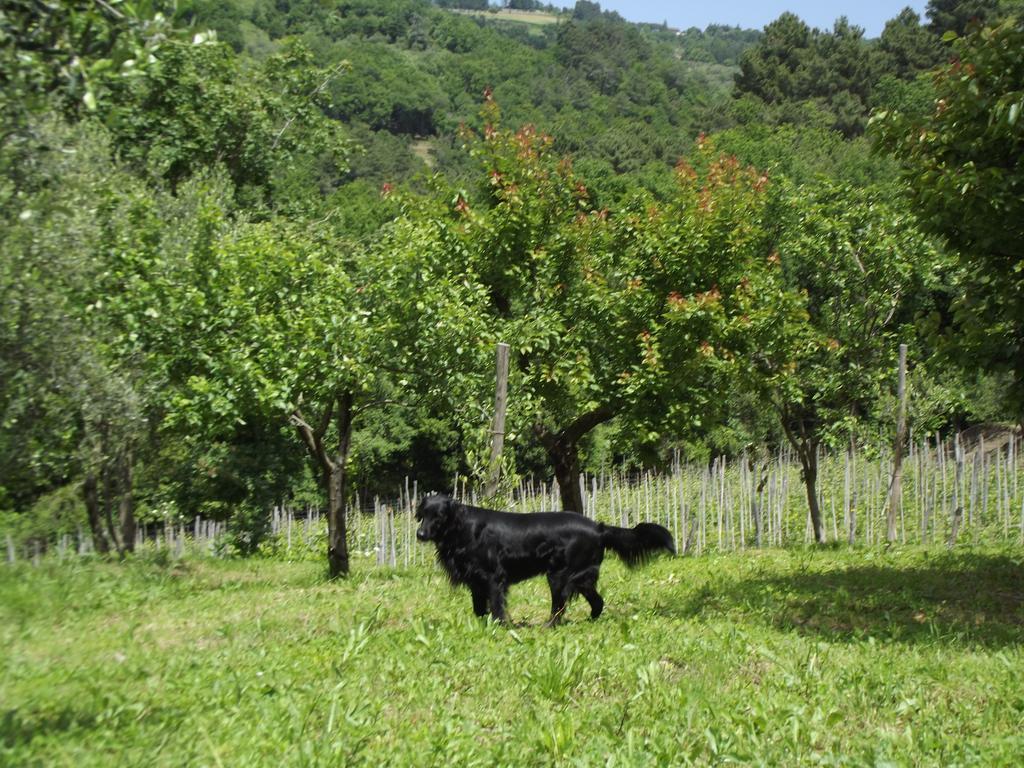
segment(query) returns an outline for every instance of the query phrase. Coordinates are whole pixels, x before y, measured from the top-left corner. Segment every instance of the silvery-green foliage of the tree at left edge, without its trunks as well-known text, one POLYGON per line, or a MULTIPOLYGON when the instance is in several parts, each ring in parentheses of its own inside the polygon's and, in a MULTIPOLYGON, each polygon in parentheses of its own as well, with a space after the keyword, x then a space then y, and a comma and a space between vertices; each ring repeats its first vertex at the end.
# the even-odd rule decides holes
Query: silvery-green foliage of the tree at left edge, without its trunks
POLYGON ((131 331, 104 305, 111 256, 154 234, 140 184, 94 127, 43 121, 33 133, 2 200, 0 464, 16 506, 100 461, 113 450, 101 436, 137 434, 159 386, 122 354, 131 331))

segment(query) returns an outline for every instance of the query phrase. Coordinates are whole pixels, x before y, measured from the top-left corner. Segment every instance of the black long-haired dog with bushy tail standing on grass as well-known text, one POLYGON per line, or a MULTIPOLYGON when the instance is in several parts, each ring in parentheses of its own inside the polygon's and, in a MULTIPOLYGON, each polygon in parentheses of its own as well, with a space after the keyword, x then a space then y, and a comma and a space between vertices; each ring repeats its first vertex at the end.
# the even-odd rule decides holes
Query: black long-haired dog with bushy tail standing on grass
POLYGON ((473 612, 482 616, 489 605, 498 622, 505 621, 509 585, 541 573, 548 574, 551 587, 549 626, 558 624, 565 603, 578 594, 590 603, 590 617, 597 618, 604 608, 597 593, 604 550, 613 550, 629 566, 658 550, 676 553, 672 534, 651 522, 620 528, 574 512, 498 512, 441 495, 424 498, 416 519, 416 538, 433 542, 452 584, 464 584, 473 593, 473 612))

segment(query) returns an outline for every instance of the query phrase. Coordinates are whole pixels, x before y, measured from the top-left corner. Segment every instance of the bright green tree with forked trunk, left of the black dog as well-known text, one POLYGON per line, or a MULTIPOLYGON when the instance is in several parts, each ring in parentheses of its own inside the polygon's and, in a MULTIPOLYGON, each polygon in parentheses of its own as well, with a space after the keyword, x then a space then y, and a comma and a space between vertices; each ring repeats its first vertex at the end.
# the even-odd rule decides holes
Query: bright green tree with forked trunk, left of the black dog
POLYGON ((207 198, 209 246, 146 269, 159 281, 135 292, 167 318, 145 343, 173 360, 169 408, 208 435, 252 418, 290 423, 327 498, 328 572, 345 575, 356 420, 409 402, 418 376, 436 382, 458 362, 431 354, 427 340, 452 327, 445 312, 471 311, 472 301, 431 274, 415 241, 395 236, 400 250, 380 258, 341 248, 324 222, 231 224, 207 198))

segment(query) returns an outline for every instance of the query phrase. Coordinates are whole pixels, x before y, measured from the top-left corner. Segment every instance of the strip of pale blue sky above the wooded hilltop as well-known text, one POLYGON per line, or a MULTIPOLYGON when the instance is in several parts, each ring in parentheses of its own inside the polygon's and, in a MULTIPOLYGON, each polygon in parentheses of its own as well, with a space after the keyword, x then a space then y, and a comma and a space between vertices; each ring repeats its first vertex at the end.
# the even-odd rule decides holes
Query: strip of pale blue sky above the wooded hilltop
MULTIPOLYGON (((615 10, 631 22, 668 22, 670 27, 703 29, 710 24, 727 24, 761 29, 793 11, 811 27, 830 29, 842 15, 863 27, 868 37, 878 37, 886 22, 906 6, 925 17, 927 0, 715 0, 714 2, 672 2, 672 0, 599 0, 604 10, 615 10)), ((572 3, 567 3, 569 6, 572 3)))

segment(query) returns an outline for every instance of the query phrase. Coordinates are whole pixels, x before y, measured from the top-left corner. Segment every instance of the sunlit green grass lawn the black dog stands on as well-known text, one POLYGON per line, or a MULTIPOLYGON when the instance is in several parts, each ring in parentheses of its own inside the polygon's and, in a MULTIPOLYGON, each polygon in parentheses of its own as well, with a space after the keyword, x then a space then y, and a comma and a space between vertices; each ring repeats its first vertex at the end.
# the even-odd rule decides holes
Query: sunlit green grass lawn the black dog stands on
POLYGON ((475 620, 434 566, 0 567, 0 765, 1016 765, 1020 549, 606 561, 475 620))

